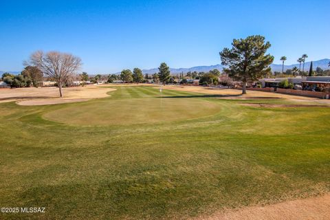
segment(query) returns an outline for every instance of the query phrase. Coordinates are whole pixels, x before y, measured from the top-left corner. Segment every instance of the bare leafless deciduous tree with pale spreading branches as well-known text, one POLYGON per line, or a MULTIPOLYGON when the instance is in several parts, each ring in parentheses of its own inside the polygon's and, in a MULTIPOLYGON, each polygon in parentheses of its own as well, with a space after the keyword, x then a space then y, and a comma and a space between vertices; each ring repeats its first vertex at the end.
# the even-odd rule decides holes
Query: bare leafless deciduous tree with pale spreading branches
POLYGON ((46 54, 42 51, 34 52, 30 56, 30 63, 56 81, 60 90, 60 97, 63 97, 63 85, 82 64, 79 57, 56 51, 46 54))

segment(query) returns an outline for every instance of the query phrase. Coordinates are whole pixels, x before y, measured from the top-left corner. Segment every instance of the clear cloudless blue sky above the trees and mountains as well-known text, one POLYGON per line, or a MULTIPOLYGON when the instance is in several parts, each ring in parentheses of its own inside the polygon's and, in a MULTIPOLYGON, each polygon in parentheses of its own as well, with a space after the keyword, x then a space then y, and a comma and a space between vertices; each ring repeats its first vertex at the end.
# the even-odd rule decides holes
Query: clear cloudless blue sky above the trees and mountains
POLYGON ((330 1, 0 0, 0 70, 21 71, 36 50, 80 56, 89 74, 214 65, 232 39, 262 34, 270 54, 330 58, 330 1))

